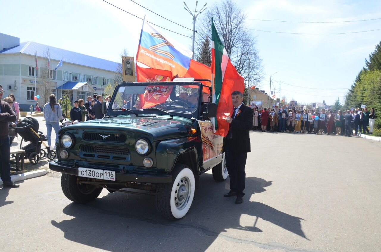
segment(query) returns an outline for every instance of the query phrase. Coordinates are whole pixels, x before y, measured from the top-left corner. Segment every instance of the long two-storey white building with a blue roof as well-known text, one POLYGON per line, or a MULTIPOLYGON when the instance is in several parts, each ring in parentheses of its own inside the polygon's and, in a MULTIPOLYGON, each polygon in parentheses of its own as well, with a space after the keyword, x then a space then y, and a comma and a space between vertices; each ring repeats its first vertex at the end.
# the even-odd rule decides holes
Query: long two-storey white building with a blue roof
POLYGON ((58 99, 61 98, 62 91, 63 96, 69 96, 71 102, 86 100, 89 95, 103 94, 103 86, 115 81, 119 64, 117 62, 33 41, 19 41, 17 37, 0 33, 0 85, 5 90, 3 97, 13 93, 22 110, 34 105, 34 96, 46 89, 40 73, 48 69, 48 55, 50 78, 47 85, 58 99), (63 65, 54 70, 62 57, 63 65))

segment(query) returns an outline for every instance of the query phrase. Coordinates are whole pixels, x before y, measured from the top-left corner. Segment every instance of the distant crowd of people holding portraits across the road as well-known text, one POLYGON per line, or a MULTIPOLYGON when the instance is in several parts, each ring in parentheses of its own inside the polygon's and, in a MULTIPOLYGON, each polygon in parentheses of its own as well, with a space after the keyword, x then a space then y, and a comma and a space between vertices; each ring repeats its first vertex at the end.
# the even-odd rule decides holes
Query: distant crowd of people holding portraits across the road
POLYGON ((327 134, 352 136, 372 134, 376 112, 374 108, 352 110, 296 110, 295 108, 254 107, 253 131, 296 132, 309 134, 327 134), (368 129, 368 126, 370 128, 368 129), (354 131, 354 132, 353 132, 354 131))

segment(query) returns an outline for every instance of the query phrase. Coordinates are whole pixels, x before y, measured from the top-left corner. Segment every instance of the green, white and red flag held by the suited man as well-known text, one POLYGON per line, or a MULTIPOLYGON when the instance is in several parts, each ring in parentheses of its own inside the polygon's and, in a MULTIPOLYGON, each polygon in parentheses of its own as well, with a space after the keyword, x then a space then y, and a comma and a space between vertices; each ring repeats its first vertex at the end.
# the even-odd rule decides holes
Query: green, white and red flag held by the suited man
POLYGON ((212 18, 212 86, 213 102, 217 104, 217 116, 212 118, 215 134, 225 137, 229 131, 229 123, 225 121, 227 116, 233 113, 231 94, 233 91, 243 93, 245 84, 243 77, 231 63, 226 49, 218 37, 212 18))

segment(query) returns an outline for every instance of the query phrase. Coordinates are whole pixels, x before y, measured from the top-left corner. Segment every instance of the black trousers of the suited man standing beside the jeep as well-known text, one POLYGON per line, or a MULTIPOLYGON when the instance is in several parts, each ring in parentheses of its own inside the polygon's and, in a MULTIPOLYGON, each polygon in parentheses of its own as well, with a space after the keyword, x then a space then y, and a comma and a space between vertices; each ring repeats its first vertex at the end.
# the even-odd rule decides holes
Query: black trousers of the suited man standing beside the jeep
POLYGON ((237 196, 243 197, 245 193, 245 165, 247 152, 235 152, 232 140, 227 139, 225 145, 226 168, 229 173, 230 190, 237 192, 237 196))

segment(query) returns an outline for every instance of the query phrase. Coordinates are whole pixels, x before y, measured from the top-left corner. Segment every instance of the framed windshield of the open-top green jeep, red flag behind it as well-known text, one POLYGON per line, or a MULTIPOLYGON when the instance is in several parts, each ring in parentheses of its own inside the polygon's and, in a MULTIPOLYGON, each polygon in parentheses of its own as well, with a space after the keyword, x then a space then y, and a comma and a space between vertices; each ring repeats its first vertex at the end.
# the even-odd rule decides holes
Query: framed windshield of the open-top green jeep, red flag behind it
POLYGON ((203 102, 203 97, 206 97, 206 102, 209 96, 200 95, 201 87, 202 84, 198 82, 122 83, 114 91, 106 116, 170 113, 192 118, 203 102))

